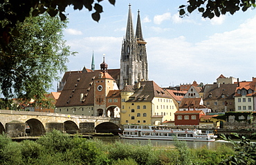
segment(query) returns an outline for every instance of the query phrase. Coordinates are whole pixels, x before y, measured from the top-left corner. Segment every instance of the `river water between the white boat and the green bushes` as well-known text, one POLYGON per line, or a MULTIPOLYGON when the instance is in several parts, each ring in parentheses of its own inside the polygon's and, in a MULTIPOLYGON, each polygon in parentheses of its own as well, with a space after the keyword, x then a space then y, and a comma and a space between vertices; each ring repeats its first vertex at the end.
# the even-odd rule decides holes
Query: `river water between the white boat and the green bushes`
MULTIPOLYGON (((93 137, 93 139, 100 139, 104 143, 114 143, 116 141, 120 141, 122 143, 147 145, 149 143, 152 146, 165 146, 172 148, 174 147, 174 141, 168 140, 147 140, 147 139, 120 139, 118 136, 113 137, 93 137)), ((224 142, 222 140, 216 140, 215 142, 187 142, 189 148, 208 148, 211 150, 215 150, 219 148, 221 145, 230 145, 228 142, 224 142)))

